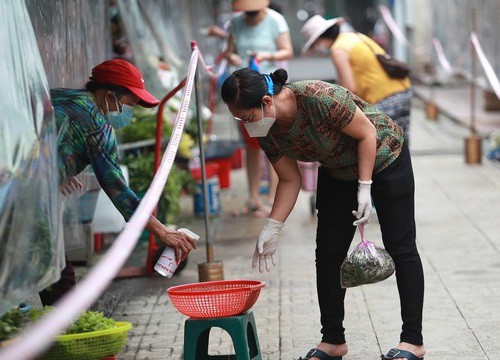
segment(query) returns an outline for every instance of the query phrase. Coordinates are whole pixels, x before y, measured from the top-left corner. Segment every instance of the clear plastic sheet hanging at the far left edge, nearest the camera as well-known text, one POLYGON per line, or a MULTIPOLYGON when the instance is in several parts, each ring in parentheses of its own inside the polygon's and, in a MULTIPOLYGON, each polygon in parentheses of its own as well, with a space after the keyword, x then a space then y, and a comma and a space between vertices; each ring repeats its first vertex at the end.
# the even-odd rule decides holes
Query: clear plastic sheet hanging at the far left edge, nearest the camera
MULTIPOLYGON (((22 0, 0 2, 0 314, 58 279, 56 134, 22 0)), ((58 256, 59 255, 59 256, 58 256)))

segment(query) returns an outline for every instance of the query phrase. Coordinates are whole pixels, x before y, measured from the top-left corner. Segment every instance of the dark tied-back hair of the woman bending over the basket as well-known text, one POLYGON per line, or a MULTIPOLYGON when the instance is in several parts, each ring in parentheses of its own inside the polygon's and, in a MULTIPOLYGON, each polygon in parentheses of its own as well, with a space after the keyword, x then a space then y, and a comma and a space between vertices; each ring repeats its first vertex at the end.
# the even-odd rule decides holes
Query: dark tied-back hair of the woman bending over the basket
POLYGON ((271 87, 266 82, 266 77, 255 70, 236 70, 222 84, 222 100, 241 109, 259 107, 264 95, 278 94, 288 79, 284 69, 278 69, 266 76, 272 80, 271 87), (273 94, 270 94, 270 88, 273 94))

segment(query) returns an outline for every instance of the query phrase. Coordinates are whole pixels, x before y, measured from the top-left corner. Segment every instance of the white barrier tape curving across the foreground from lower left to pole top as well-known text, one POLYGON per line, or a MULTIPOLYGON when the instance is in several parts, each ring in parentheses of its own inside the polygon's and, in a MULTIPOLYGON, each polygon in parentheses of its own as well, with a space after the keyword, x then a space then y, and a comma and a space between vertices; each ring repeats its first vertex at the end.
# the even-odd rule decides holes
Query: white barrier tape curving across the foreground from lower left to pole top
POLYGON ((193 89, 194 75, 198 63, 198 48, 195 47, 189 62, 186 88, 182 97, 182 105, 177 115, 174 131, 167 146, 165 155, 150 188, 142 199, 134 215, 130 218, 123 232, 115 240, 102 260, 96 264, 88 275, 67 293, 57 304, 56 309, 26 330, 16 341, 0 351, 0 360, 32 359, 52 340, 62 333, 83 309, 88 308, 113 281, 137 243, 137 239, 146 226, 150 214, 156 207, 160 194, 172 168, 175 154, 179 146, 182 130, 187 117, 189 99, 193 89), (186 101, 187 100, 187 101, 186 101))

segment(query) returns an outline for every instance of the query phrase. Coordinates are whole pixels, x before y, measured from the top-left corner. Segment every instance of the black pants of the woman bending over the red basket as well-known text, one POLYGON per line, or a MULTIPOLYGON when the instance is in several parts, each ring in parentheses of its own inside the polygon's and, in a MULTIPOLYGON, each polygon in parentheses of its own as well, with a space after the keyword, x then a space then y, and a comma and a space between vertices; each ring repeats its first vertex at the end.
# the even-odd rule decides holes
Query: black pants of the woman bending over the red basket
MULTIPOLYGON (((322 341, 330 344, 345 343, 345 289, 340 286, 340 266, 356 230, 352 210, 358 207, 357 188, 357 180, 334 180, 319 169, 316 275, 322 341)), ((399 157, 373 177, 371 193, 384 247, 396 265, 403 320, 400 341, 421 345, 424 275, 415 244, 415 184, 406 144, 399 157)))

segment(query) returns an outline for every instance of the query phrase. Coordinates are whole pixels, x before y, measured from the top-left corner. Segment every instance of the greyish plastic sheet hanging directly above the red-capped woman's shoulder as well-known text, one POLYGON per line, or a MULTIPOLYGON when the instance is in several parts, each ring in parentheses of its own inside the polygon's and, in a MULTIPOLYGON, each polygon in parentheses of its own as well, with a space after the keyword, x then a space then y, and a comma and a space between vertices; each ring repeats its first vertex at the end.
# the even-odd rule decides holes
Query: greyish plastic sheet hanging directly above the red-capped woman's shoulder
POLYGON ((49 87, 83 88, 92 68, 111 57, 108 0, 25 2, 49 87))

